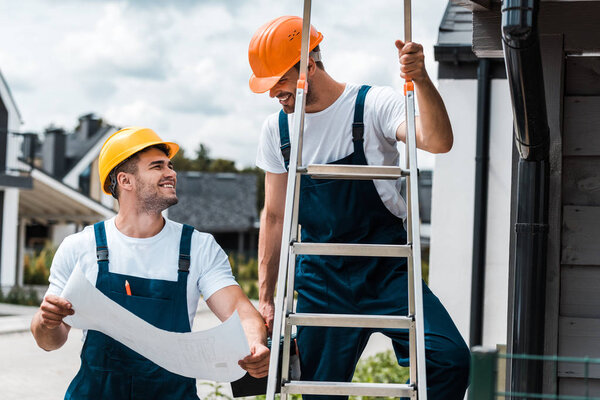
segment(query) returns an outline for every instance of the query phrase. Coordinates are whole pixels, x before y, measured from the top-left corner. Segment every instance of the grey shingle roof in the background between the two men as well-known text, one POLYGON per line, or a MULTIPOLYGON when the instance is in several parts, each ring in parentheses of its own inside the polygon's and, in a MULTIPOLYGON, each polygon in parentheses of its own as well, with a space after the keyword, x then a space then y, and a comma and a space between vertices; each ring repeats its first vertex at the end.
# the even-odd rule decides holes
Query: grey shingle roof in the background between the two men
POLYGON ((253 174, 178 172, 169 219, 204 232, 247 231, 258 221, 256 184, 253 174))

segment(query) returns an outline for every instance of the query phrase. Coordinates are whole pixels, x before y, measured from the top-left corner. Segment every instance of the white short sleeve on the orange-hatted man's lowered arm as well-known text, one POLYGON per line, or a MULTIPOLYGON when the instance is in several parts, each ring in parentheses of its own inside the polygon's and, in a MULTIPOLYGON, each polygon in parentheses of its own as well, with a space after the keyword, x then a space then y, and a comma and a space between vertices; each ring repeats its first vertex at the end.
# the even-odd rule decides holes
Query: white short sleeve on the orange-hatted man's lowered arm
POLYGON ((266 172, 283 174, 287 170, 280 148, 278 115, 270 115, 263 123, 256 153, 256 166, 266 172))

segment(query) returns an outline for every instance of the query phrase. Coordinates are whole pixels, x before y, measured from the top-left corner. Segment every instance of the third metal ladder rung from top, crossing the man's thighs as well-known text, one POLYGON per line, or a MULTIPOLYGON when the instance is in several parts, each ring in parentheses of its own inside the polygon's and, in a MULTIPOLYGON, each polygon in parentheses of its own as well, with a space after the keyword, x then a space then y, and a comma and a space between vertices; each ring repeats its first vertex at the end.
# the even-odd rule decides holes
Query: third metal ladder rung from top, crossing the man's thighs
POLYGON ((287 317, 287 323, 300 326, 408 329, 412 322, 402 315, 294 313, 287 317))

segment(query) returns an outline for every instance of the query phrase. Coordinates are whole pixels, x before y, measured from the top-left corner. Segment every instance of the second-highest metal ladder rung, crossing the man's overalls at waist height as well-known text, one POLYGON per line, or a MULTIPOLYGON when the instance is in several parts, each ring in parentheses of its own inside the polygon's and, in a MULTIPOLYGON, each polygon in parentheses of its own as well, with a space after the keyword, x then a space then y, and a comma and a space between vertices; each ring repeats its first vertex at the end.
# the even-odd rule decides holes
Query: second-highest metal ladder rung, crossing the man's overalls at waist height
POLYGON ((358 257, 409 257, 412 246, 405 244, 294 243, 294 254, 358 257))

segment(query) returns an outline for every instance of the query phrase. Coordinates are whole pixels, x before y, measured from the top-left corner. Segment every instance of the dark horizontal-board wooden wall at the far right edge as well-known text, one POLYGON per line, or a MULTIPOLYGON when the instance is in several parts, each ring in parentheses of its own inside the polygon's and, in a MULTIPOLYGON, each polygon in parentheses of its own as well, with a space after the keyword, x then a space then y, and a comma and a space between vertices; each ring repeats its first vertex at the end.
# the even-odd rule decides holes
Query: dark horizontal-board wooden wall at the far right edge
MULTIPOLYGON (((564 82, 558 352, 600 358, 600 57, 567 57, 564 82)), ((561 394, 585 394, 583 364, 558 376, 561 394)), ((588 376, 600 396, 600 365, 588 376)))

